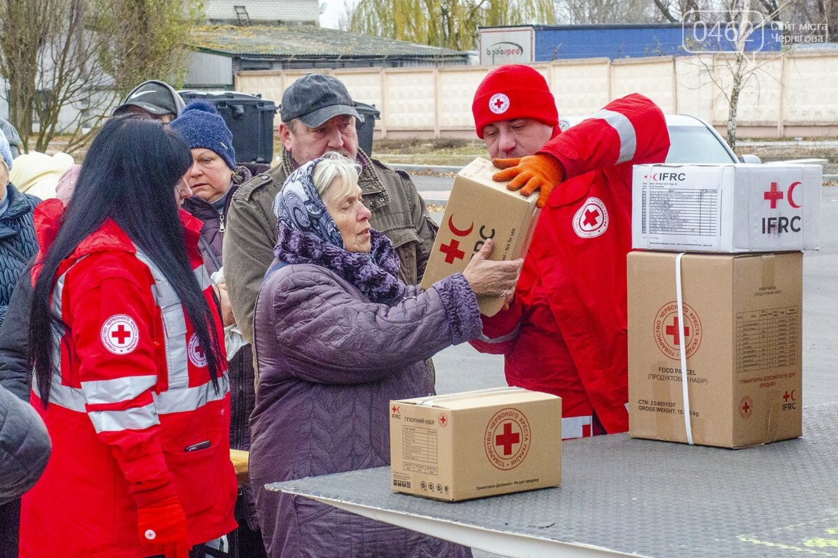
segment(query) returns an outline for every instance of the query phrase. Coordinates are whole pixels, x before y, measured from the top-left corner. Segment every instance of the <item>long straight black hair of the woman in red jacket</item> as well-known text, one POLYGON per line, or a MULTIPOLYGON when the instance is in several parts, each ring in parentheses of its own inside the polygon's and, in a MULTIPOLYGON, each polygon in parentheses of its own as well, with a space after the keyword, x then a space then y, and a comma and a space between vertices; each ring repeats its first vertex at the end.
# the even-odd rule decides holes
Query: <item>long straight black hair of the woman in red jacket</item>
POLYGON ((79 243, 113 219, 168 279, 204 347, 216 391, 223 371, 214 310, 189 263, 184 228, 178 218, 175 187, 192 165, 183 138, 158 120, 137 115, 111 117, 91 143, 73 197, 34 284, 29 325, 29 360, 34 364, 39 396, 46 407, 54 366, 52 335, 68 326, 50 310, 59 264, 79 243))

